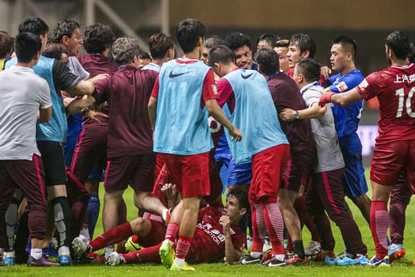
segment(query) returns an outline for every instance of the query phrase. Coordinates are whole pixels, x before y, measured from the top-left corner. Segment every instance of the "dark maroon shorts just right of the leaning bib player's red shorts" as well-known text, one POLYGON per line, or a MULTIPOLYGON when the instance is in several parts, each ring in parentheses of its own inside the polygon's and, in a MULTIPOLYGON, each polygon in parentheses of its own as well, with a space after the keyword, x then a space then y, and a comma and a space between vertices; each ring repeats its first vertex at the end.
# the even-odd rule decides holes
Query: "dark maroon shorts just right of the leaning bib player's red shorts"
MULTIPOLYGON (((282 188, 299 192, 299 187, 303 184, 306 186, 311 175, 311 162, 309 166, 302 166, 299 157, 291 155, 288 159, 286 168, 284 169, 284 177, 282 178, 282 188)), ((303 161, 304 163, 304 161, 303 161)))

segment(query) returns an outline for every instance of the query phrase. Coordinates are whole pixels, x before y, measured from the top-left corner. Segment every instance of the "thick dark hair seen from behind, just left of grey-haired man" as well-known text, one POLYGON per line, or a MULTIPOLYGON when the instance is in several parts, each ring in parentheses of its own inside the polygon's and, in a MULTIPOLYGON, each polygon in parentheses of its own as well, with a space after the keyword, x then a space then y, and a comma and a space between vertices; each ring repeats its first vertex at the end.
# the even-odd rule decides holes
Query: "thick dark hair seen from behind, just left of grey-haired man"
POLYGON ((113 30, 105 24, 93 24, 86 27, 84 33, 84 48, 86 53, 102 54, 116 41, 113 30))

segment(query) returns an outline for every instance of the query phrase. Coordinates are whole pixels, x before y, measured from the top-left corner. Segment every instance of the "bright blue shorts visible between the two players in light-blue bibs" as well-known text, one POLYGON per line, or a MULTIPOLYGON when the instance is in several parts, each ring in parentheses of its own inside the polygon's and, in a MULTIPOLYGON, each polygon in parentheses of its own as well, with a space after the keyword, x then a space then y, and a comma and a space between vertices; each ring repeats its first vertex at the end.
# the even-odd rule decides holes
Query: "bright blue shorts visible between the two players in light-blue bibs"
POLYGON ((235 163, 228 146, 216 148, 214 159, 219 168, 222 168, 222 166, 228 168, 227 186, 250 184, 252 179, 251 163, 235 163))

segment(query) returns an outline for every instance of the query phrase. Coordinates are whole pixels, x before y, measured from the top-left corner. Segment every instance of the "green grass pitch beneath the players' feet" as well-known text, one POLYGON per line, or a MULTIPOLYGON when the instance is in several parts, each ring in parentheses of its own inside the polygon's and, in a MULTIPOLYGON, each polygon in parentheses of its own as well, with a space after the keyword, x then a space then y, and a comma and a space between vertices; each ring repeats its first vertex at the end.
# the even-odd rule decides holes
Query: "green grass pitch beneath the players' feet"
MULTIPOLYGON (((369 182, 369 170, 366 170, 367 180, 369 182)), ((369 184, 369 183, 368 183, 369 184)), ((100 196, 103 199, 104 190, 101 186, 100 196)), ((369 192, 370 196, 370 192, 369 192)), ((124 199, 127 202, 128 207, 128 220, 132 220, 137 215, 137 210, 133 206, 133 194, 132 190, 128 189, 124 193, 124 199)), ((362 233, 362 239, 367 244, 368 247, 368 256, 374 255, 374 242, 371 239, 371 233, 367 222, 363 219, 360 211, 356 206, 347 199, 353 216, 360 227, 362 233)), ((102 213, 101 204, 101 213, 102 213)), ((266 276, 267 274, 272 274, 272 276, 328 276, 328 277, 365 277, 365 276, 415 276, 415 267, 412 266, 412 259, 415 258, 415 222, 410 220, 411 215, 415 213, 415 204, 409 204, 407 208, 407 224, 405 228, 405 249, 407 251, 406 256, 402 260, 394 262, 391 267, 379 267, 379 268, 366 268, 360 266, 353 267, 339 267, 339 266, 329 266, 322 263, 311 262, 309 266, 299 266, 299 267, 282 267, 282 268, 267 268, 260 267, 258 265, 225 265, 225 264, 210 264, 210 265, 196 265, 195 272, 180 272, 174 273, 167 271, 161 265, 129 265, 121 267, 107 267, 105 265, 78 265, 71 267, 58 267, 58 268, 28 268, 26 265, 15 265, 12 267, 0 267, 0 276, 179 276, 182 274, 192 275, 192 276, 266 276)), ((332 224, 332 229, 334 237, 336 240, 335 253, 339 253, 344 250, 344 244, 342 242, 342 237, 340 231, 332 224)), ((97 227, 95 229, 95 235, 102 233, 102 223, 101 219, 98 220, 97 227)), ((304 229, 303 231, 303 240, 306 244, 310 240, 310 233, 304 229)))

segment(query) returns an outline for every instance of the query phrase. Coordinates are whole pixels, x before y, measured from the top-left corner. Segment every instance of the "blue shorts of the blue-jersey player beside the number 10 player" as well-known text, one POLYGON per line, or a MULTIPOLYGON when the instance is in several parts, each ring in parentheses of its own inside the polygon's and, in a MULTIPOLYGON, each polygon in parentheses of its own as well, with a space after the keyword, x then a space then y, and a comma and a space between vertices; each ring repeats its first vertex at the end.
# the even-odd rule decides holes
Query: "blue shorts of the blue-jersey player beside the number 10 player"
POLYGON ((362 144, 358 135, 351 134, 339 139, 342 149, 344 170, 344 195, 355 198, 369 191, 362 163, 362 144))

